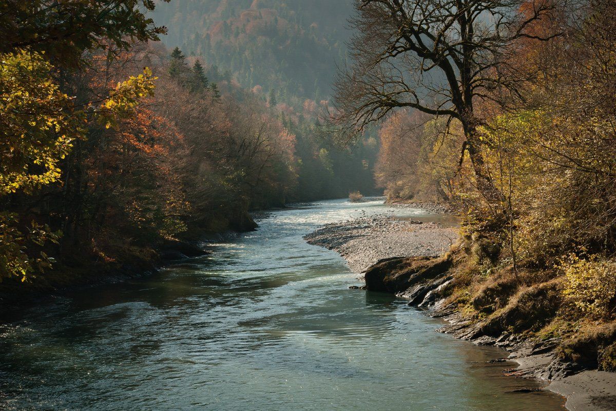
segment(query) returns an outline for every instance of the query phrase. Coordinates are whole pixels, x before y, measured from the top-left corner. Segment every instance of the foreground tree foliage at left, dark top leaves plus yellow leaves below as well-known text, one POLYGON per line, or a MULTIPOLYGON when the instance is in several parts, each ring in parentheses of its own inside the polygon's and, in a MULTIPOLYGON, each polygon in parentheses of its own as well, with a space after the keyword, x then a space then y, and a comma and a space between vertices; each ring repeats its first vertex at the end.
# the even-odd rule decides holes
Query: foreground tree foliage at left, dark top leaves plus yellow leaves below
POLYGON ((150 0, 0 4, 0 280, 26 280, 48 267, 43 246, 60 234, 10 211, 16 198, 59 181, 65 158, 86 137, 86 120, 110 128, 153 87, 146 69, 78 103, 60 76, 81 70, 99 49, 111 62, 134 41, 158 39, 164 28, 144 14, 154 7, 150 0))

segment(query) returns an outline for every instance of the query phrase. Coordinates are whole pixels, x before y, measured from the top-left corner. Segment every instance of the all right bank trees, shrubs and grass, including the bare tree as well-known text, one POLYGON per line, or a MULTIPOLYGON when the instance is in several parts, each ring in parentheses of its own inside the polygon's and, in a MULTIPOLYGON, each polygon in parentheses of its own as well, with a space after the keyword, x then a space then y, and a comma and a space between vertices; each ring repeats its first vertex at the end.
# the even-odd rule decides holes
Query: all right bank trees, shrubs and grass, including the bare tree
POLYGON ((387 196, 460 213, 440 296, 485 335, 615 371, 616 3, 355 7, 331 126, 380 123, 387 196))

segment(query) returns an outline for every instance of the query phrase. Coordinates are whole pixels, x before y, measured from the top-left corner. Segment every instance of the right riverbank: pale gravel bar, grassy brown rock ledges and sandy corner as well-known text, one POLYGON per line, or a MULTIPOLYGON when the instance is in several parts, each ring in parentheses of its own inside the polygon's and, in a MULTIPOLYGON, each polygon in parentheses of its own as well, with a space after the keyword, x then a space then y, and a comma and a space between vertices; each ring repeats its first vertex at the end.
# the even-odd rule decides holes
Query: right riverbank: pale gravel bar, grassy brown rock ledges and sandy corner
MULTIPOLYGON (((365 271, 368 290, 395 293, 407 298, 410 305, 422 307, 430 315, 447 320, 450 324, 440 332, 511 352, 509 359, 516 360, 520 366, 510 374, 550 381, 548 388, 551 391, 567 397, 568 409, 615 409, 616 373, 588 370, 593 364, 580 359, 577 362, 563 359, 564 344, 559 338, 545 333, 538 336, 538 326, 547 325, 561 303, 557 299, 559 279, 546 280, 527 287, 515 298, 506 298, 508 303, 502 303, 493 315, 465 312, 459 294, 460 279, 468 274, 465 272, 469 269, 468 250, 458 243, 452 250, 438 256, 439 253, 434 253, 432 248, 435 232, 443 235, 455 231, 432 227, 414 229, 415 235, 409 237, 411 227, 410 223, 397 226, 387 216, 374 221, 360 218, 324 226, 305 238, 311 244, 338 251, 355 271, 365 271), (365 267, 368 262, 379 258, 378 263, 365 267)), ((443 239, 441 237, 441 241, 443 239)), ((506 291, 500 289, 505 287, 503 282, 493 283, 491 287, 487 285, 482 293, 484 300, 506 295, 506 291)), ((487 301, 472 303, 477 307, 487 305, 487 301)), ((578 341, 578 347, 571 350, 574 354, 569 355, 588 351, 591 357, 594 349, 596 359, 601 338, 609 341, 612 336, 603 332, 587 338, 589 341, 578 341)))

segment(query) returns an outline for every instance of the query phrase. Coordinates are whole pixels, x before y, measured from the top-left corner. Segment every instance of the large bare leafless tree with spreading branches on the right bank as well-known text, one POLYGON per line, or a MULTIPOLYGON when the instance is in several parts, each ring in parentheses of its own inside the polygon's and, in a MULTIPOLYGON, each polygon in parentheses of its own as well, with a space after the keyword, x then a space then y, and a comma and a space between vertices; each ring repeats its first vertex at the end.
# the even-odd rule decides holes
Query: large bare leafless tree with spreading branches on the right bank
MULTIPOLYGON (((370 124, 411 107, 464 130, 479 189, 495 193, 485 171, 477 100, 519 96, 522 79, 501 70, 532 27, 556 12, 553 0, 355 0, 351 63, 339 72, 330 121, 343 142, 370 124)), ((499 101, 500 102, 500 101, 499 101)))

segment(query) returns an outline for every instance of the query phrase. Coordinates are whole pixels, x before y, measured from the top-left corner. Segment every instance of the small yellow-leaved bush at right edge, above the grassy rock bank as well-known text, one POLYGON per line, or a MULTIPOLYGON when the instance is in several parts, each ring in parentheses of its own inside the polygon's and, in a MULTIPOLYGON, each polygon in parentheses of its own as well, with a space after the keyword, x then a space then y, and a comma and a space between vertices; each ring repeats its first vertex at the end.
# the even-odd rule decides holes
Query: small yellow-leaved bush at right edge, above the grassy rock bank
POLYGON ((571 256, 561 264, 566 283, 563 295, 584 314, 606 317, 616 295, 616 262, 600 256, 571 256))

